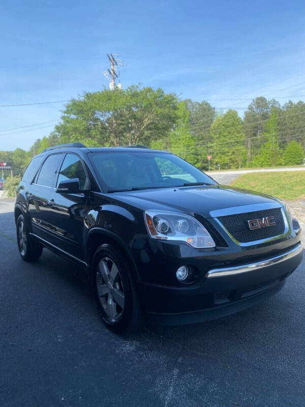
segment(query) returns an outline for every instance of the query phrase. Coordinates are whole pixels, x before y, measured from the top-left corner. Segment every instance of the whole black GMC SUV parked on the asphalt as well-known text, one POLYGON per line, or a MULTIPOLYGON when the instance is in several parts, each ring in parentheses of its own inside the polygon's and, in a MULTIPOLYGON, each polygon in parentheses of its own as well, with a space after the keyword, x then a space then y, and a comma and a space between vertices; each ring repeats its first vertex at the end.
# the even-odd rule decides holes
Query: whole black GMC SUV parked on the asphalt
POLYGON ((277 293, 302 257, 284 202, 144 146, 45 150, 24 172, 15 220, 21 257, 47 247, 82 266, 117 332, 247 308, 277 293))

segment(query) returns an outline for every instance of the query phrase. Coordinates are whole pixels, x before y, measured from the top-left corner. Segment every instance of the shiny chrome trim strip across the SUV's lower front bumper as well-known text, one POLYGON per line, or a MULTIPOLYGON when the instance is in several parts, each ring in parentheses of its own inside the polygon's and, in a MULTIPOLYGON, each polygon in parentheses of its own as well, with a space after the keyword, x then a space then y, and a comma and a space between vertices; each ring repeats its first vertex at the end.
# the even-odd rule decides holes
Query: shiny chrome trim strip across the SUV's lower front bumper
POLYGON ((256 263, 250 263, 243 266, 237 267, 227 267, 222 269, 213 269, 207 272, 206 277, 223 277, 223 276, 231 276, 234 274, 241 274, 241 273, 248 273, 249 271, 263 269, 265 267, 273 266, 282 261, 286 261, 291 257, 296 256, 297 254, 301 253, 302 245, 298 244, 292 250, 287 251, 286 253, 280 254, 279 256, 267 258, 263 261, 257 261, 256 263))

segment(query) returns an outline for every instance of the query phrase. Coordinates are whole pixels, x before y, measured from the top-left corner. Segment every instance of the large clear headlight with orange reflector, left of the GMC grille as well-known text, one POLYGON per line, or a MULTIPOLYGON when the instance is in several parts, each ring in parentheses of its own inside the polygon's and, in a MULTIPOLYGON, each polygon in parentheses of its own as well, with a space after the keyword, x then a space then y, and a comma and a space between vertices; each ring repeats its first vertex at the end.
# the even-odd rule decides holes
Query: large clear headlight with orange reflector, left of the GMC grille
POLYGON ((186 242, 201 249, 215 247, 209 232, 197 219, 170 211, 146 211, 145 223, 153 239, 186 242))

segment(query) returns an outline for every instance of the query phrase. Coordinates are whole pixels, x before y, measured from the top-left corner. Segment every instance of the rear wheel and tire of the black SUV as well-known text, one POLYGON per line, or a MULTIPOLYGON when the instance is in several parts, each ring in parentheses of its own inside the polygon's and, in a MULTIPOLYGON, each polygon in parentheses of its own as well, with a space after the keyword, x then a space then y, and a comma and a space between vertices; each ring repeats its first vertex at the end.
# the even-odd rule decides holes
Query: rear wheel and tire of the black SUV
POLYGON ((24 261, 37 261, 42 254, 43 246, 29 235, 23 215, 19 215, 17 222, 17 244, 21 258, 24 261))

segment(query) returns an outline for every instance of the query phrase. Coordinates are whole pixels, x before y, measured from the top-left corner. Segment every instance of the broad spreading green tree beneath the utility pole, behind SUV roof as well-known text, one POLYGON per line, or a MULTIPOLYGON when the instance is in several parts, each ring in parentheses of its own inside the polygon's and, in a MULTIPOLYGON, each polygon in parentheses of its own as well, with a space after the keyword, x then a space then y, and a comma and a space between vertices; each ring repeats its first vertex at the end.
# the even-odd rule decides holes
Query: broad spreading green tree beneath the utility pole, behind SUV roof
POLYGON ((56 134, 87 146, 150 144, 173 128, 177 104, 174 94, 140 86, 87 92, 67 104, 56 134))

